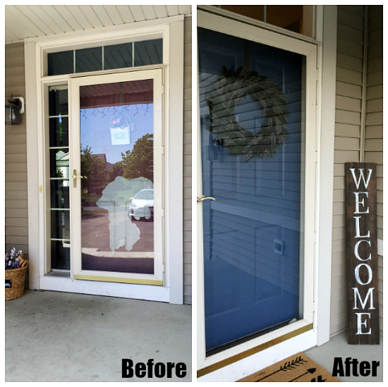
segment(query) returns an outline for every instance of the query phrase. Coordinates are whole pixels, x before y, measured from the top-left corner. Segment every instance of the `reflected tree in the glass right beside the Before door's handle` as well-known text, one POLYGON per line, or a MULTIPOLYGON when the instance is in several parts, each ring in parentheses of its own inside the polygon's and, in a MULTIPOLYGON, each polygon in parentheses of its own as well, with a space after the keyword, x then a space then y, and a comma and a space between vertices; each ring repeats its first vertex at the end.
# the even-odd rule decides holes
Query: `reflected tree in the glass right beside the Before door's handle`
POLYGON ((102 159, 96 154, 92 154, 91 147, 82 148, 81 145, 81 188, 89 192, 98 192, 105 186, 107 173, 105 166, 106 159, 102 159))

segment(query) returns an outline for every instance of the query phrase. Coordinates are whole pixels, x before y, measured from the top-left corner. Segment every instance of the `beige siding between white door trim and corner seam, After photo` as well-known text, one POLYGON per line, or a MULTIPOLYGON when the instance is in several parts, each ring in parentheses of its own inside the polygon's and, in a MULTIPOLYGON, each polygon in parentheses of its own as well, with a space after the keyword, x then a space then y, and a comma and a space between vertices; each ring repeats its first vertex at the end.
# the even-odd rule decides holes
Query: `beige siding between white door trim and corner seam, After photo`
POLYGON ((360 161, 364 35, 363 12, 360 12, 362 9, 360 6, 338 7, 330 317, 332 335, 344 330, 348 324, 344 163, 360 161))

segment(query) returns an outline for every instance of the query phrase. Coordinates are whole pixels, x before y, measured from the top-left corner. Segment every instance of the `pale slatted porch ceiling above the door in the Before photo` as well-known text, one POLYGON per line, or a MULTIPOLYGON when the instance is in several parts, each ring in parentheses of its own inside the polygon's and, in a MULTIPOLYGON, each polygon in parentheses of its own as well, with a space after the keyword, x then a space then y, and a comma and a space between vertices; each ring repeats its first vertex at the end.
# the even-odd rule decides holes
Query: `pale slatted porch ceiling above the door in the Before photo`
POLYGON ((6 43, 27 37, 90 30, 141 20, 191 15, 191 6, 10 6, 6 7, 6 43))

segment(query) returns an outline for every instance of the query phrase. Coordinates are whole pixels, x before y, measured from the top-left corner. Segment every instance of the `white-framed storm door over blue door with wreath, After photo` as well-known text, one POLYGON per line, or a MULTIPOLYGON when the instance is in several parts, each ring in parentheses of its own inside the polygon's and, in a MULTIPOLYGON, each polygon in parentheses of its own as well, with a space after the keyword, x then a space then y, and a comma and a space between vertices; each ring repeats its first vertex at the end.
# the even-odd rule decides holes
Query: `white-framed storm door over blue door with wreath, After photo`
POLYGON ((202 376, 303 333, 316 343, 317 48, 198 20, 202 376))

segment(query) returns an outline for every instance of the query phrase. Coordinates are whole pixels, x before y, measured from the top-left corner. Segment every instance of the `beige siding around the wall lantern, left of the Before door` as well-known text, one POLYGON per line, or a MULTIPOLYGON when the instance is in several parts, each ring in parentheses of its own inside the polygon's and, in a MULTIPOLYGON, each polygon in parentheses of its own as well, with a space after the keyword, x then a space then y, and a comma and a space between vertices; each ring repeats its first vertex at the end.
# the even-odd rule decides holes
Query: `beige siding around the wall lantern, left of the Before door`
MULTIPOLYGON (((14 97, 25 97, 23 42, 6 44, 5 70, 5 102, 8 104, 11 93, 14 97)), ((5 125, 5 231, 6 251, 16 247, 23 250, 28 259, 26 119, 27 112, 21 115, 20 125, 5 125)))

